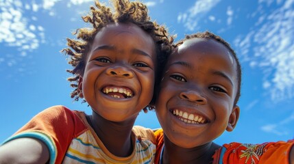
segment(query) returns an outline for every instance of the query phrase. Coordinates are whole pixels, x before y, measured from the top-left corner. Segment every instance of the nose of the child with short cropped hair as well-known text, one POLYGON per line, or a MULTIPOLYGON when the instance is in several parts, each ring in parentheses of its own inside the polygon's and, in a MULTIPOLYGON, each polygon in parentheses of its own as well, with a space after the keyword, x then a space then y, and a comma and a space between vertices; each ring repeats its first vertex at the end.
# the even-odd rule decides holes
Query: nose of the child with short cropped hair
POLYGON ((186 91, 180 92, 180 98, 182 100, 196 102, 199 105, 205 105, 207 103, 206 98, 204 96, 201 96, 201 94, 197 92, 196 90, 186 90, 186 91))

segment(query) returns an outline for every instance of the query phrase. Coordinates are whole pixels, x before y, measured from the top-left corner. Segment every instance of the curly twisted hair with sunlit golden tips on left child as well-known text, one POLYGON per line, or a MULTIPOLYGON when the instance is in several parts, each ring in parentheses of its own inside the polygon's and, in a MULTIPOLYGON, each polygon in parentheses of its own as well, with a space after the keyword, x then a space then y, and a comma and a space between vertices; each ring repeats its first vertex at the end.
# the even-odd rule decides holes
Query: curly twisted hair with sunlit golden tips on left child
MULTIPOLYGON (((172 50, 173 38, 169 37, 167 29, 162 25, 158 25, 156 22, 151 22, 151 18, 148 16, 146 5, 138 1, 130 2, 128 0, 112 0, 114 11, 105 5, 95 1, 95 7, 90 7, 90 14, 82 16, 82 19, 86 23, 90 23, 92 27, 84 27, 77 29, 73 35, 76 35, 77 40, 67 40, 67 45, 70 48, 63 49, 66 55, 69 55, 69 64, 73 66, 72 70, 66 70, 73 74, 73 77, 69 77, 68 81, 71 82, 71 87, 74 88, 71 92, 71 98, 79 100, 79 77, 84 75, 84 69, 86 67, 86 56, 90 49, 91 44, 96 34, 106 25, 110 23, 134 23, 138 25, 143 31, 148 33, 153 38, 156 44, 157 55, 157 70, 156 70, 156 83, 158 86, 158 79, 160 79, 160 66, 167 60, 168 55, 172 50)), ((150 105, 154 105, 156 94, 151 100, 150 105)), ((86 102, 86 100, 84 100, 86 102)))

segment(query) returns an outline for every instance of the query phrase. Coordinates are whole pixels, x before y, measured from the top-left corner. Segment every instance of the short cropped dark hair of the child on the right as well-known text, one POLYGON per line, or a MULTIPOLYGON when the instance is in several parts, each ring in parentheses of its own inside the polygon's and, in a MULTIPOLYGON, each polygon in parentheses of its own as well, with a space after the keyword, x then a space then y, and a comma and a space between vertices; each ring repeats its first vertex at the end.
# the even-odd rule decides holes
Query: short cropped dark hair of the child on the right
POLYGON ((241 96, 241 77, 242 77, 242 70, 241 70, 241 64, 240 61, 238 60, 238 57, 235 53, 235 51, 232 49, 232 47, 230 46, 230 44, 228 42, 226 42, 225 40, 223 40, 223 38, 221 38, 220 36, 215 35, 214 33, 211 33, 210 31, 205 31, 205 32, 198 32, 198 33, 194 33, 191 35, 186 35, 186 37, 183 40, 180 40, 179 42, 177 42, 176 44, 173 45, 173 47, 177 47, 180 46, 181 44, 183 44, 184 41, 192 39, 192 38, 204 38, 206 40, 215 40, 221 44, 223 44, 223 46, 225 46, 231 53, 231 55, 234 57, 236 64, 237 64, 237 81, 238 81, 238 90, 236 93, 236 97, 234 99, 234 105, 237 104, 240 96, 241 96))

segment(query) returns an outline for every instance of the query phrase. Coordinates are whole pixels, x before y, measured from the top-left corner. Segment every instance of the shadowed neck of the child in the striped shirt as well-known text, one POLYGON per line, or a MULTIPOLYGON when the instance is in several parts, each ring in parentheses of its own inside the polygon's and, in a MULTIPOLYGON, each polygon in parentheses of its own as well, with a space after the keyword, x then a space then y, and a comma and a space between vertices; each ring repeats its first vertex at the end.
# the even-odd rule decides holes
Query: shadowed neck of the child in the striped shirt
POLYGON ((115 156, 130 156, 133 152, 132 127, 136 117, 123 122, 112 122, 93 111, 88 122, 109 152, 115 156))

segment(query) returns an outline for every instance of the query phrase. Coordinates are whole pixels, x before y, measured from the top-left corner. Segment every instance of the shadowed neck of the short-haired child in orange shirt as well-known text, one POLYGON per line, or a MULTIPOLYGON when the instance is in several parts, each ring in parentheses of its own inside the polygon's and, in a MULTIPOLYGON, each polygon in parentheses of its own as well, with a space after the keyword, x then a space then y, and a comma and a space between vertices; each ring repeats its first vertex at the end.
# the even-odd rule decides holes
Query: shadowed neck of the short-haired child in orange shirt
POLYGON ((213 142, 194 148, 182 148, 164 135, 163 163, 212 163, 212 156, 220 148, 213 142))

